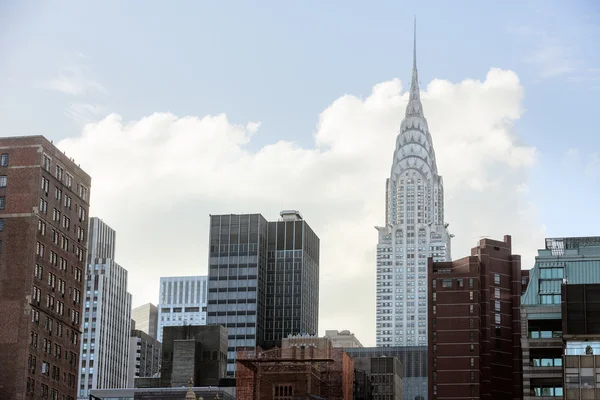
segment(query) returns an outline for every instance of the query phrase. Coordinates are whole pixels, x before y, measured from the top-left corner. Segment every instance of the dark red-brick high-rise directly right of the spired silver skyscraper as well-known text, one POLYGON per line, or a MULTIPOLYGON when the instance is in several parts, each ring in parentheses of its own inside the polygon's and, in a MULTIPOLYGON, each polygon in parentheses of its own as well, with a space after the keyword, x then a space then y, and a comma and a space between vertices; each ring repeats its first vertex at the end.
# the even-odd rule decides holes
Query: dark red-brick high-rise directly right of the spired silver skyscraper
POLYGON ((521 256, 511 237, 429 261, 429 399, 520 399, 521 256))

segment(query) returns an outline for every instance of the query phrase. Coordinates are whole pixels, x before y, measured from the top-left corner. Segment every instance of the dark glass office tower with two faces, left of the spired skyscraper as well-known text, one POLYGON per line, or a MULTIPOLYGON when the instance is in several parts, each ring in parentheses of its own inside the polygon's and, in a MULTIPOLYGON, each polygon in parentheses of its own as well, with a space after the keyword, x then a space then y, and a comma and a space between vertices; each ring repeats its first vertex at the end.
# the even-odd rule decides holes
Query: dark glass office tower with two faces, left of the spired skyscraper
POLYGON ((237 348, 317 333, 319 238, 297 211, 282 211, 275 222, 260 214, 210 221, 207 323, 229 331, 233 376, 237 348))

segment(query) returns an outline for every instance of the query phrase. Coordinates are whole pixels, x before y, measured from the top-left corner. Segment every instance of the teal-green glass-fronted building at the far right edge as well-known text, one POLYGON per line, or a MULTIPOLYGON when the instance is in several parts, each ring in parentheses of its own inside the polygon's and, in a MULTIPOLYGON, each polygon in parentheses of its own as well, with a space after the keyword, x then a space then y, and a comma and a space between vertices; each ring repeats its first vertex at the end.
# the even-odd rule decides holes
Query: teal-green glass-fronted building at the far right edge
POLYGON ((594 328, 590 327, 589 336, 582 331, 587 327, 582 327, 581 322, 587 323, 590 309, 597 313, 593 304, 595 293, 592 291, 589 298, 593 304, 590 308, 581 304, 581 295, 569 296, 573 285, 600 283, 600 237, 546 239, 544 249, 538 250, 529 278, 521 298, 523 399, 600 397, 580 397, 594 396, 594 391, 585 386, 589 385, 588 368, 596 365, 596 356, 589 357, 585 349, 589 344, 598 354, 600 348, 595 349, 594 328), (580 304, 574 310, 569 309, 574 303, 580 304), (563 314, 565 307, 570 312, 563 314), (588 342, 584 345, 582 340, 588 342))

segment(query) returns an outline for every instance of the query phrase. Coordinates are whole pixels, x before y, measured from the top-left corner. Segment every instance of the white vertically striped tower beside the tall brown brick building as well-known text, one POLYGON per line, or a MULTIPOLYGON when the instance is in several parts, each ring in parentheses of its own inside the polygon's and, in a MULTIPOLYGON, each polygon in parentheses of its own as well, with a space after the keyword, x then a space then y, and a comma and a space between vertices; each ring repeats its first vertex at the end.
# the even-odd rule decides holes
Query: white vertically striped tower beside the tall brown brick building
POLYGON ((92 389, 127 386, 131 294, 127 270, 115 262, 116 233, 90 218, 79 398, 92 389))

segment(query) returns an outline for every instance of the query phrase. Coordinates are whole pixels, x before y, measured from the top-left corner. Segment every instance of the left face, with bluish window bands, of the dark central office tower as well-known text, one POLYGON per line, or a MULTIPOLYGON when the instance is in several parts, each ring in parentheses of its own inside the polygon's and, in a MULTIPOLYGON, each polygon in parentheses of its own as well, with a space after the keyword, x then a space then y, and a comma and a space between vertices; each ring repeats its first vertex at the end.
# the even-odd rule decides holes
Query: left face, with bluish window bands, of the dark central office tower
POLYGON ((260 214, 211 215, 208 325, 227 328, 227 375, 238 347, 264 340, 267 221, 260 214))

